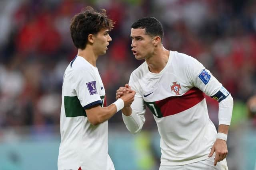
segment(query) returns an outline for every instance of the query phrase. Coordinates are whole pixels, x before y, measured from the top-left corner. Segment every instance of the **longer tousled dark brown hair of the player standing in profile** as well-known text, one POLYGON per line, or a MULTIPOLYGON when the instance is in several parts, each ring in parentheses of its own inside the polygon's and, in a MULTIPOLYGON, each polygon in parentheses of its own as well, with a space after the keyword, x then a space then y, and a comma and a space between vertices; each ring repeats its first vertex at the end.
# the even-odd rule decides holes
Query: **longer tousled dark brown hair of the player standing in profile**
POLYGON ((83 50, 88 43, 89 34, 97 34, 101 29, 110 31, 113 27, 114 22, 108 18, 106 10, 100 9, 97 12, 87 6, 71 19, 70 33, 76 48, 83 50))

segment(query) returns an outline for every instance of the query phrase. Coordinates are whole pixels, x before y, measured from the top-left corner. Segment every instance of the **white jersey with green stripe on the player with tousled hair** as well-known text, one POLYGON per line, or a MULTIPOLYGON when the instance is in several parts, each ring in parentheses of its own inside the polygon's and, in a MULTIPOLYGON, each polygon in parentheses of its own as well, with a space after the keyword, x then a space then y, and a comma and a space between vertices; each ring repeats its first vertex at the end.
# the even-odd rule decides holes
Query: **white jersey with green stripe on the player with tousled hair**
POLYGON ((85 109, 104 105, 105 90, 98 72, 77 56, 65 70, 60 115, 58 170, 114 170, 108 155, 108 121, 92 125, 85 109))

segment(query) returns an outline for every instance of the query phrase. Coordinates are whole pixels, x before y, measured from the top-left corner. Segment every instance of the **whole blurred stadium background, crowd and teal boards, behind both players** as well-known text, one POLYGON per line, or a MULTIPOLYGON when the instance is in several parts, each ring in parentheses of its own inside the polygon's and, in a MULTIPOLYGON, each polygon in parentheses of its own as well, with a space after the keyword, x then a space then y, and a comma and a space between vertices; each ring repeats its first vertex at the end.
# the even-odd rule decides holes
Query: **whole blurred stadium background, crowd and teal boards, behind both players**
MULTIPOLYGON (((0 0, 0 170, 57 169, 62 76, 77 52, 69 24, 88 5, 116 21, 108 52, 97 61, 108 104, 142 63, 130 51, 130 25, 154 16, 167 49, 198 59, 231 92, 228 166, 256 170, 256 123, 246 106, 256 94, 254 0, 0 0)), ((217 126, 218 102, 207 101, 217 126)), ((157 170, 159 141, 149 111, 138 135, 128 132, 121 113, 109 120, 116 170, 157 170)))

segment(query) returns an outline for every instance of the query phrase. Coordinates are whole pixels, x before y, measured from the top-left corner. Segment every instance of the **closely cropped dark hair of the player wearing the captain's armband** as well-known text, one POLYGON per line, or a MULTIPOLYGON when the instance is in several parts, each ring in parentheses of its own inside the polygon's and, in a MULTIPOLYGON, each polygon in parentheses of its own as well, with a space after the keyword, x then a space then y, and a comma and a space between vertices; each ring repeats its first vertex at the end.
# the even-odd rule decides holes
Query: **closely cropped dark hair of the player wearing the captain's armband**
POLYGON ((164 37, 164 29, 160 21, 154 17, 141 18, 132 24, 132 28, 145 28, 145 33, 151 36, 159 36, 161 41, 164 37))

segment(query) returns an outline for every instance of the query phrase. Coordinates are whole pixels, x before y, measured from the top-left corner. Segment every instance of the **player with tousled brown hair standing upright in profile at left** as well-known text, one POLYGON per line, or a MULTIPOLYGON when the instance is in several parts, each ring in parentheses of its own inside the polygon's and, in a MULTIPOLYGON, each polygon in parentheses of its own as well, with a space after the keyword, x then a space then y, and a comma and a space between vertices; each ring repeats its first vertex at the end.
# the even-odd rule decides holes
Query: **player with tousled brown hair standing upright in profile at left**
POLYGON ((63 77, 58 170, 114 170, 108 155, 108 119, 129 106, 135 92, 106 107, 96 60, 106 53, 112 28, 104 9, 86 7, 72 18, 70 32, 78 54, 63 77))

